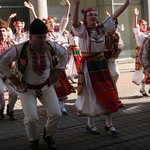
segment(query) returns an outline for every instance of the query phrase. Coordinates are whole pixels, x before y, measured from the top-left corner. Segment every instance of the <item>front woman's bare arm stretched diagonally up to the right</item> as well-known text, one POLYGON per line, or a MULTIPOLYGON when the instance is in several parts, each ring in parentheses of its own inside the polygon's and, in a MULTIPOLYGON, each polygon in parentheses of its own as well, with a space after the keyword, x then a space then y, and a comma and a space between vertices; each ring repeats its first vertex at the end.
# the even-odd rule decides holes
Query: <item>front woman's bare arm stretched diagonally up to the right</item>
POLYGON ((126 2, 119 9, 117 9, 114 14, 111 15, 112 19, 116 20, 118 16, 128 7, 130 2, 131 0, 126 0, 126 2))

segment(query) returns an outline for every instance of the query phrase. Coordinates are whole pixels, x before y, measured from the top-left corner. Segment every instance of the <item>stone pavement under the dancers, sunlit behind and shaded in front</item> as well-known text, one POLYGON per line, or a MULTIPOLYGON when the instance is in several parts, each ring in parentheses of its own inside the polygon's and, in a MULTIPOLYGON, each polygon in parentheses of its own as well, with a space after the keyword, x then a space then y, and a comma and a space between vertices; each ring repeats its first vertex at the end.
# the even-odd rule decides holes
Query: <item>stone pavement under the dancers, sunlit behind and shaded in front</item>
MULTIPOLYGON (((126 108, 113 114, 113 124, 120 132, 114 136, 104 130, 105 117, 95 118, 101 135, 86 131, 86 117, 78 117, 73 108, 76 94, 66 101, 67 116, 62 116, 58 131, 54 136, 58 150, 149 150, 150 149, 150 97, 142 97, 140 86, 132 83, 134 63, 119 63, 121 75, 117 83, 119 98, 126 108)), ((76 84, 74 84, 76 87, 76 84)), ((149 87, 146 86, 148 91, 149 87)), ((7 95, 6 95, 7 97, 7 95)), ((7 102, 7 101, 6 101, 7 102)), ((42 132, 46 121, 45 109, 38 102, 40 149, 48 150, 43 142, 42 132)), ((23 125, 20 100, 15 106, 17 121, 5 117, 0 122, 0 150, 30 150, 23 125)))

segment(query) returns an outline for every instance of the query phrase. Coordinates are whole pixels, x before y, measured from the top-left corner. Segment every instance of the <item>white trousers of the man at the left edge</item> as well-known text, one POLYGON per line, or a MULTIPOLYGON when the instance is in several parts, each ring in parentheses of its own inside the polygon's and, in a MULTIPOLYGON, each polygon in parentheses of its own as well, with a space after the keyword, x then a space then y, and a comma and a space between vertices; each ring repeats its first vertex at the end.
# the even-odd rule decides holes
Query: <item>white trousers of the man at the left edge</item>
POLYGON ((17 91, 7 83, 7 80, 4 80, 0 77, 0 109, 5 108, 5 100, 4 100, 4 85, 6 86, 9 94, 8 98, 8 106, 9 112, 13 111, 15 103, 17 101, 18 93, 17 91))

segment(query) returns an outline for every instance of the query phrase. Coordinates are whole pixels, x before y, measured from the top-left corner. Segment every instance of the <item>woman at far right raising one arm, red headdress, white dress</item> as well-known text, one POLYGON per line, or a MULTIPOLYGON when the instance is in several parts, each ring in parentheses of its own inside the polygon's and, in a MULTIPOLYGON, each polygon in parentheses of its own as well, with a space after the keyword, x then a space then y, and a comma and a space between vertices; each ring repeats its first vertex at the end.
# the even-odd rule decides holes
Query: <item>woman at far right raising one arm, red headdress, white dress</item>
MULTIPOLYGON (((148 36, 147 22, 145 20, 139 20, 139 10, 137 8, 134 9, 134 24, 133 24, 133 32, 136 40, 137 47, 135 49, 136 60, 135 60, 135 73, 132 77, 132 82, 136 85, 141 85, 140 93, 143 96, 148 96, 145 91, 145 84, 150 84, 150 79, 143 74, 143 67, 139 61, 139 51, 141 49, 142 43, 144 39, 148 36)), ((149 90, 150 93, 150 90, 149 90)))

